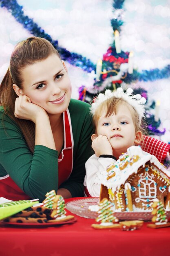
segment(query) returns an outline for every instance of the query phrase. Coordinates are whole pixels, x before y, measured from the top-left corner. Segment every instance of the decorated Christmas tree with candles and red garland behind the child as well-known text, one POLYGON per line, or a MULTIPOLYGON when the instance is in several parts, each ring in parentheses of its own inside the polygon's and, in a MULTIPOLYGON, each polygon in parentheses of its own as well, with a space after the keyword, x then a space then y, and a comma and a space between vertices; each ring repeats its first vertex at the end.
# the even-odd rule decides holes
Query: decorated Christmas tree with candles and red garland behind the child
MULTIPOLYGON (((103 59, 97 62, 93 88, 87 89, 85 86, 79 88, 79 100, 91 103, 99 93, 104 93, 107 89, 116 90, 118 87, 122 87, 126 91, 130 84, 141 81, 141 77, 146 81, 148 76, 153 76, 154 79, 156 77, 154 70, 150 72, 144 70, 140 74, 137 69, 133 68, 133 52, 124 52, 120 47, 119 33, 121 32, 121 26, 124 24, 122 20, 123 5, 124 0, 113 0, 114 18, 111 19, 114 34, 113 43, 103 55, 103 59)), ((155 108, 155 101, 148 102, 147 91, 143 88, 133 90, 134 94, 141 94, 142 97, 146 98, 145 128, 148 134, 163 135, 166 129, 159 129, 161 121, 159 117, 155 117, 152 114, 152 110, 155 108)))

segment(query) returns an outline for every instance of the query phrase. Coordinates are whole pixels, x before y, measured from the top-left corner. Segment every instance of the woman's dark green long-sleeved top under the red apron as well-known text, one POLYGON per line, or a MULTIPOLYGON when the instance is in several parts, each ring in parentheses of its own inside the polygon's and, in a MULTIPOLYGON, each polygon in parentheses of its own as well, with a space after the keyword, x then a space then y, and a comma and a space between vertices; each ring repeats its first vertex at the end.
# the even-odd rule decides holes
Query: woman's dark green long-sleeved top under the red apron
MULTIPOLYGON (((84 196, 85 162, 93 154, 93 125, 87 103, 71 99, 68 110, 74 140, 73 171, 60 188, 68 189, 72 197, 79 197, 84 196)), ((3 107, 0 107, 0 177, 9 175, 26 195, 42 201, 46 192, 52 189, 57 192, 57 160, 57 150, 42 145, 35 145, 32 154, 20 128, 7 115, 4 116, 3 107)))

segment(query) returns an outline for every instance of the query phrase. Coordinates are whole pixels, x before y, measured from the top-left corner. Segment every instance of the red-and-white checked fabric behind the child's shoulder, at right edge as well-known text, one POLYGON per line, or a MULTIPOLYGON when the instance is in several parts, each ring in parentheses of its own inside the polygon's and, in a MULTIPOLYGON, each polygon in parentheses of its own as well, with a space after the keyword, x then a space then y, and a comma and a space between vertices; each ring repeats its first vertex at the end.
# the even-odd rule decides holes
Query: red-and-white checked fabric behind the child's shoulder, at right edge
POLYGON ((151 155, 155 155, 159 162, 163 164, 168 151, 170 151, 170 144, 166 144, 159 139, 155 139, 144 135, 140 143, 141 149, 151 155))

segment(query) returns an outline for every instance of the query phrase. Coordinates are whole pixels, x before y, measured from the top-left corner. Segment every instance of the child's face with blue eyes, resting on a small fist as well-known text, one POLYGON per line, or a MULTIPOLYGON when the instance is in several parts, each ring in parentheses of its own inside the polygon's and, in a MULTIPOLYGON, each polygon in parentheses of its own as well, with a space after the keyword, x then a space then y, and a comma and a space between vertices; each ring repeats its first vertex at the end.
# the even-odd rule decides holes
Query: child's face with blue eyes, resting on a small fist
POLYGON ((103 110, 97 124, 97 136, 105 135, 112 148, 113 155, 126 153, 127 148, 141 141, 141 132, 135 131, 132 113, 124 104, 117 109, 117 114, 105 117, 106 111, 103 110))

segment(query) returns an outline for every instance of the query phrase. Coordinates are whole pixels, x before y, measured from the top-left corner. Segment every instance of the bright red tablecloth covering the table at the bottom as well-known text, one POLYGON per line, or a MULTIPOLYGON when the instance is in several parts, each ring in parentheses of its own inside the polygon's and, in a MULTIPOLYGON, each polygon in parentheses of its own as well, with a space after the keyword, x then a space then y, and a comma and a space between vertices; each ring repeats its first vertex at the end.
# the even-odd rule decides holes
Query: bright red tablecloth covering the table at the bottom
POLYGON ((94 219, 76 218, 73 224, 46 228, 1 224, 0 256, 170 256, 170 227, 150 229, 144 223, 134 231, 96 230, 94 219))

